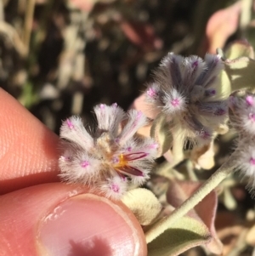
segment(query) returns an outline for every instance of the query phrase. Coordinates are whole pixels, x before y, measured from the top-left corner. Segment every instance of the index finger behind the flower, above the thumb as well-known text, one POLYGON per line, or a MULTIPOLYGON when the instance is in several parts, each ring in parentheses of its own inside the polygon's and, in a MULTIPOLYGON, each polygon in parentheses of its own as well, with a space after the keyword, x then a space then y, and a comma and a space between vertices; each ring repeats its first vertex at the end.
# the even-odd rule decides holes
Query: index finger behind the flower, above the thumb
POLYGON ((0 88, 0 194, 58 180, 58 136, 0 88))

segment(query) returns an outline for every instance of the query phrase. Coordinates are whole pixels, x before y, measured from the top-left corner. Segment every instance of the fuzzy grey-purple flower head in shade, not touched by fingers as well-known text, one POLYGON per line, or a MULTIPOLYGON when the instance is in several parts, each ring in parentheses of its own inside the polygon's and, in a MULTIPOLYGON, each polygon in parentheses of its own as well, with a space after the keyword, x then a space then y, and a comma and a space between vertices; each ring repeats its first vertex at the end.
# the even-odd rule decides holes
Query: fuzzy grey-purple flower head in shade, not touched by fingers
POLYGON ((206 54, 202 60, 170 53, 155 71, 146 101, 160 108, 179 134, 205 143, 226 120, 226 96, 218 82, 223 68, 218 55, 206 54))

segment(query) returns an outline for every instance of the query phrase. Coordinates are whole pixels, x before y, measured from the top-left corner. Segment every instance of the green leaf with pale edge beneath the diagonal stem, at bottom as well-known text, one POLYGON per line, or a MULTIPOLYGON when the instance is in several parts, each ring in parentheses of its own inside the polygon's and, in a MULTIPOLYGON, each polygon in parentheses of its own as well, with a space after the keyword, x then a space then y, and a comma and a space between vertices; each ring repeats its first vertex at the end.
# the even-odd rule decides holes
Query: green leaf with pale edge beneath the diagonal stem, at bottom
POLYGON ((148 244, 148 256, 179 255, 191 247, 206 244, 211 239, 206 225, 185 216, 148 244))

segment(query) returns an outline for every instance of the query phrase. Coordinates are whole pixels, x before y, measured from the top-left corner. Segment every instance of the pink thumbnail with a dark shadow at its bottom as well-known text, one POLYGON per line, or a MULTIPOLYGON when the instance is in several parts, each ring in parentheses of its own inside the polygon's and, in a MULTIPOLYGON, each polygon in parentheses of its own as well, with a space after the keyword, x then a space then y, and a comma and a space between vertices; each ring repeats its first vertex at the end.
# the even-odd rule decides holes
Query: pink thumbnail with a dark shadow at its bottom
POLYGON ((38 225, 39 255, 139 255, 140 234, 122 208, 93 194, 59 203, 38 225))

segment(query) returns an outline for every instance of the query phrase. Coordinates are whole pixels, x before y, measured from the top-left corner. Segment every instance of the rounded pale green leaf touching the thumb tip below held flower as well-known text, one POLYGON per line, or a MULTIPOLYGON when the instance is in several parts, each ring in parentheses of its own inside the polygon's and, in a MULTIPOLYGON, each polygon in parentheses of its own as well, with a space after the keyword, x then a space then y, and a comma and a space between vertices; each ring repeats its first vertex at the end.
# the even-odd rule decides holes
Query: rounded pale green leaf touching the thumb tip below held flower
POLYGON ((140 225, 150 225, 161 213, 161 203, 156 196, 145 189, 134 189, 122 196, 122 202, 126 204, 140 225))

